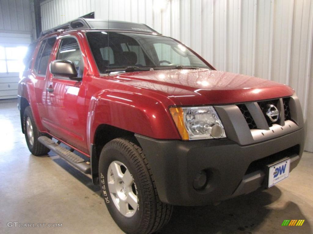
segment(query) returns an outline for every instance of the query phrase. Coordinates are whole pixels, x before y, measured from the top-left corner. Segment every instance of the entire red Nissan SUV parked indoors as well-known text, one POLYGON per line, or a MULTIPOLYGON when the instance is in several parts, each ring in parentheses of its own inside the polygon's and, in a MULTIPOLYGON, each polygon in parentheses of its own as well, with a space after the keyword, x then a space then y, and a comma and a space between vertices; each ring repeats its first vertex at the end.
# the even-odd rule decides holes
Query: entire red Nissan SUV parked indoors
POLYGON ((144 24, 80 18, 43 32, 24 62, 30 152, 90 173, 126 233, 156 232, 173 205, 271 187, 301 158, 293 89, 216 71, 144 24))

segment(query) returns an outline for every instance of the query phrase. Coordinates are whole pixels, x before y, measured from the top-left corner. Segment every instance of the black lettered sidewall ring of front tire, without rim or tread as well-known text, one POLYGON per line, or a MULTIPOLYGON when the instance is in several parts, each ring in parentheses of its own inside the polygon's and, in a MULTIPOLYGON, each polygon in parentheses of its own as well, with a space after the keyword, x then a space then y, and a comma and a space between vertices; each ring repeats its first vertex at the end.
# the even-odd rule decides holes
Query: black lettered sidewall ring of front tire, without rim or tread
POLYGON ((105 147, 102 150, 99 161, 99 181, 104 202, 110 212, 110 215, 113 217, 117 225, 126 233, 139 233, 137 230, 141 230, 141 221, 143 217, 143 211, 145 210, 142 196, 143 190, 141 188, 141 184, 139 183, 140 180, 137 176, 136 168, 132 165, 130 158, 125 152, 112 146, 105 147), (136 193, 139 200, 139 207, 137 207, 136 213, 132 217, 125 217, 117 210, 108 189, 108 168, 110 163, 116 160, 123 163, 134 178, 136 193), (104 187, 103 182, 105 185, 104 187))

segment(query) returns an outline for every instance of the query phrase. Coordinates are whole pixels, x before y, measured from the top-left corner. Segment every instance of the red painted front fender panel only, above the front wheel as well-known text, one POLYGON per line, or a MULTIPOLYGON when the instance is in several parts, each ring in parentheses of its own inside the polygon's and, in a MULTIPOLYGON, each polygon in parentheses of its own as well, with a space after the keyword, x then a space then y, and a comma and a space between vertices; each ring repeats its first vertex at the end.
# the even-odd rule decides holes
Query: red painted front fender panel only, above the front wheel
POLYGON ((90 99, 87 145, 94 144, 100 124, 108 124, 155 139, 181 139, 168 106, 152 96, 103 90, 90 99))

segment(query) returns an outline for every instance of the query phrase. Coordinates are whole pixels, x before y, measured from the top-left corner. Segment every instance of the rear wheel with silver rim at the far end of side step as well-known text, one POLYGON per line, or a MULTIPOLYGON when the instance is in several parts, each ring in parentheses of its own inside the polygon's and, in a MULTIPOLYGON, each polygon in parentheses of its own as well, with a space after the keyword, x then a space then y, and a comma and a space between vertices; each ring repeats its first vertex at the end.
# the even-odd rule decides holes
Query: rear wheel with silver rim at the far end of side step
POLYGON ((30 109, 30 106, 27 106, 24 110, 23 129, 27 147, 33 155, 39 156, 49 153, 50 149, 38 141, 38 137, 42 136, 43 134, 41 134, 37 129, 37 125, 35 123, 33 112, 30 109))

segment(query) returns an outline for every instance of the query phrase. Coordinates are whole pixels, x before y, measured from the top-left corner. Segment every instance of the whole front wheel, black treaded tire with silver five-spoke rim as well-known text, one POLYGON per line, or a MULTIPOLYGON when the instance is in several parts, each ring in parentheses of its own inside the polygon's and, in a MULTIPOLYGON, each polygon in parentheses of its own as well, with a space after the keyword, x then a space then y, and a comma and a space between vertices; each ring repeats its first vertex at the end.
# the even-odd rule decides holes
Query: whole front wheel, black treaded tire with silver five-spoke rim
POLYGON ((153 233, 170 220, 173 206, 160 201, 138 144, 122 138, 107 143, 100 154, 99 181, 110 215, 127 234, 153 233))

